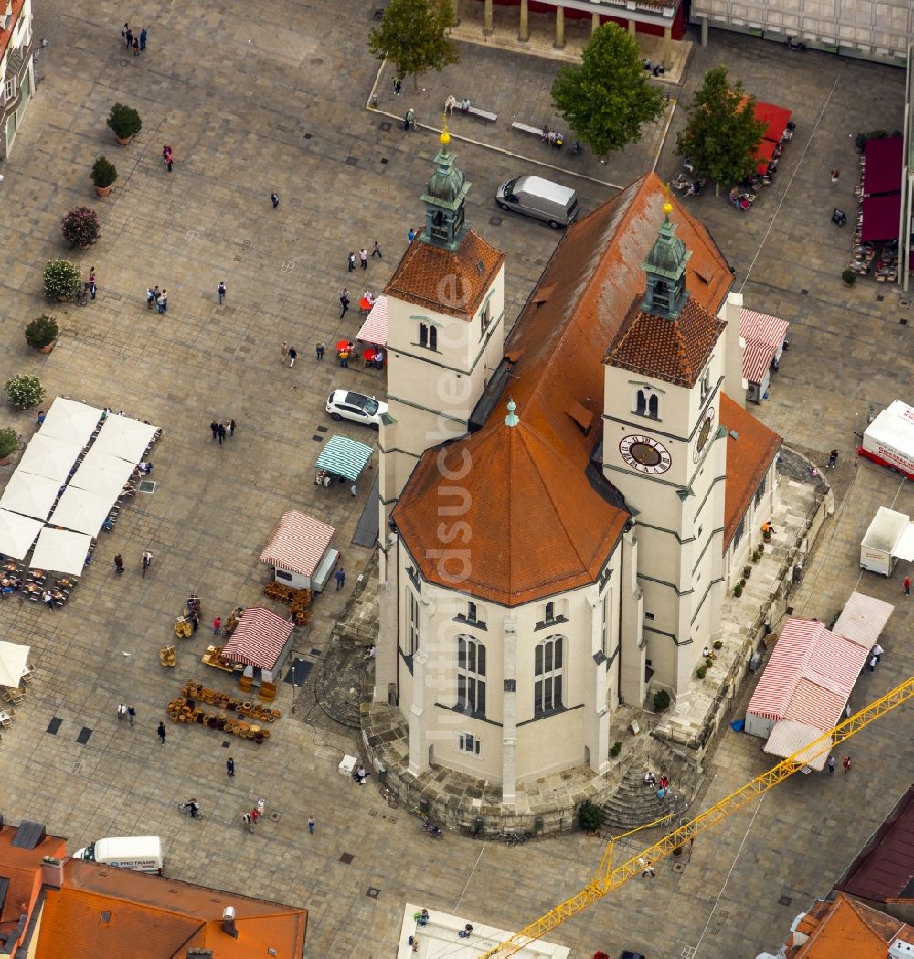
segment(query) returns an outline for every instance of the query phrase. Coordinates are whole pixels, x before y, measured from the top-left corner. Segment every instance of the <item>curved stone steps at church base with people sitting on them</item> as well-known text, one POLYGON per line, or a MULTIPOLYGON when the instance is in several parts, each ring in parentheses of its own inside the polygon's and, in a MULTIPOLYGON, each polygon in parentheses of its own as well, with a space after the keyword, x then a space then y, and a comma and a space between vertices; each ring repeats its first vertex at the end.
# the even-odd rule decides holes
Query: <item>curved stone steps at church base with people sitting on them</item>
POLYGON ((639 748, 632 752, 628 768, 612 797, 603 804, 606 819, 603 830, 619 835, 657 819, 672 821, 687 815, 698 792, 703 774, 688 757, 671 749, 667 743, 654 737, 644 737, 639 748), (644 773, 650 770, 659 780, 667 776, 668 794, 657 797, 657 786, 644 783, 644 773))

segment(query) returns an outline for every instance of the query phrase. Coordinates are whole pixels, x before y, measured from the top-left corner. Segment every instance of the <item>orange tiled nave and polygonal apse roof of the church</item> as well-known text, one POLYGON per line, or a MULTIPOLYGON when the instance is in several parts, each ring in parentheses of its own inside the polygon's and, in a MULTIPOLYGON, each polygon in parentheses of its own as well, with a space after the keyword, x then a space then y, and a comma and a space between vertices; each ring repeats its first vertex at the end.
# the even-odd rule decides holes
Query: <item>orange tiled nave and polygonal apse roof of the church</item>
MULTIPOLYGON (((641 265, 657 239, 666 202, 660 177, 647 174, 568 228, 504 347, 513 363, 510 396, 520 426, 505 427, 504 403, 497 404, 479 433, 458 440, 445 455, 461 456, 462 462, 457 451, 465 447, 475 457, 461 480, 472 519, 460 519, 472 528, 472 582, 479 596, 513 605, 580 585, 587 576, 592 581, 621 535, 628 513, 600 495, 584 471, 602 438, 603 356, 636 296, 644 295, 641 265), (505 430, 516 435, 505 436, 505 430), (565 509, 568 490, 576 498, 573 513, 565 509), (527 508, 522 519, 519 491, 535 496, 541 512, 527 508), (529 557, 540 557, 553 535, 559 545, 536 560, 545 564, 542 573, 527 570, 533 565, 529 557), (489 575, 495 578, 486 593, 489 575)), ((713 316, 730 289, 730 268, 705 227, 671 202, 677 236, 691 251, 687 289, 713 316)), ((387 292, 402 295, 394 287, 391 281, 387 292)), ((422 457, 393 519, 423 575, 454 585, 430 558, 457 549, 441 539, 440 526, 447 534, 450 524, 441 523, 437 509, 453 504, 453 493, 448 501, 442 487, 455 483, 440 475, 437 456, 433 449, 422 457)))

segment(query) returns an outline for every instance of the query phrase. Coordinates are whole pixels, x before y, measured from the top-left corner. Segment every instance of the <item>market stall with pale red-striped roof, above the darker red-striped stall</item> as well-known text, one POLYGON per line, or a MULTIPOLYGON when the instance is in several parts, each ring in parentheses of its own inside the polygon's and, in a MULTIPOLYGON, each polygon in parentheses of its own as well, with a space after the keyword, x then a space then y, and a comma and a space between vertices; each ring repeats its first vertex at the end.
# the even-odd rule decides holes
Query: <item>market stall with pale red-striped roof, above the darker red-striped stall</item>
POLYGON ((340 550, 330 548, 335 532, 334 526, 290 509, 273 526, 260 562, 273 567, 276 581, 320 593, 340 558, 340 550))

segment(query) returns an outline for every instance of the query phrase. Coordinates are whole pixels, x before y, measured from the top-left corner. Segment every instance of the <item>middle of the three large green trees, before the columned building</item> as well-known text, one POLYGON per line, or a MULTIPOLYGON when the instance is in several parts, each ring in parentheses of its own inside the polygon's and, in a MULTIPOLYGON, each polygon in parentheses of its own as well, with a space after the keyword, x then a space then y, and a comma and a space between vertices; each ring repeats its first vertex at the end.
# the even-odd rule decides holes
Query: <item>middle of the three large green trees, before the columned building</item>
POLYGON ((594 32, 579 65, 559 71, 552 102, 598 155, 638 140, 642 124, 664 111, 664 95, 647 82, 638 44, 615 23, 594 32))

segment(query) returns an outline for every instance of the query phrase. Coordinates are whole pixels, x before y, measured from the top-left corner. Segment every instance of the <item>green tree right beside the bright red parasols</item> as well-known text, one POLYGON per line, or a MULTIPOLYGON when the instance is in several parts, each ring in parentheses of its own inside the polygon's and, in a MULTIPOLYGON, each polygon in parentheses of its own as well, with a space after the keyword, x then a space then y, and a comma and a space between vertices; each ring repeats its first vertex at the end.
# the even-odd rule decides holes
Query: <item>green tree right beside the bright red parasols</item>
POLYGON ((755 170, 766 129, 755 106, 741 82, 727 79, 726 66, 709 70, 687 110, 686 129, 676 136, 676 152, 691 157, 695 171, 710 176, 716 187, 738 183, 755 170))

